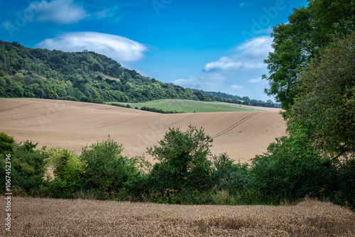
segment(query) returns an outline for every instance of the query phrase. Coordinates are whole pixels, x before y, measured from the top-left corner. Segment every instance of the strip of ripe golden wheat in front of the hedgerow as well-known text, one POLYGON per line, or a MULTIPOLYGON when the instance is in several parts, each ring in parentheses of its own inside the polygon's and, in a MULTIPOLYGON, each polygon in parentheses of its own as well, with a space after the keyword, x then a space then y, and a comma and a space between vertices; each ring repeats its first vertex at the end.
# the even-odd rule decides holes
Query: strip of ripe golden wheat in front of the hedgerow
MULTIPOLYGON (((12 206, 12 236, 355 236, 354 213, 312 200, 296 206, 179 206, 13 197, 12 206)), ((6 236, 4 225, 0 236, 6 236)))

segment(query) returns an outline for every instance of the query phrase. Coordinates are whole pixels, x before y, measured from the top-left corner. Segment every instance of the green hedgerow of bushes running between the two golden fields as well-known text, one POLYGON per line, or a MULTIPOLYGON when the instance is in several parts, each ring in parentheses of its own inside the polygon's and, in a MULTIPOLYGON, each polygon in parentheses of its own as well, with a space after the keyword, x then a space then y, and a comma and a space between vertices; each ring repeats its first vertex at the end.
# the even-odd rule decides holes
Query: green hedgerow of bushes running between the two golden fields
MULTIPOLYGON (((35 150, 1 133, 1 172, 11 154, 12 192, 31 197, 92 198, 161 204, 280 204, 305 197, 355 207, 349 182, 353 161, 332 165, 319 151, 280 138, 251 165, 212 155, 213 139, 203 128, 170 128, 143 157, 122 155, 111 138, 82 148, 81 155, 59 148, 35 150), (287 145, 288 148, 285 148, 287 145), (307 154, 307 156, 302 156, 307 154), (53 176, 46 177, 48 167, 53 176), (350 170, 349 170, 350 169, 350 170)), ((5 193, 5 184, 0 186, 5 193)))

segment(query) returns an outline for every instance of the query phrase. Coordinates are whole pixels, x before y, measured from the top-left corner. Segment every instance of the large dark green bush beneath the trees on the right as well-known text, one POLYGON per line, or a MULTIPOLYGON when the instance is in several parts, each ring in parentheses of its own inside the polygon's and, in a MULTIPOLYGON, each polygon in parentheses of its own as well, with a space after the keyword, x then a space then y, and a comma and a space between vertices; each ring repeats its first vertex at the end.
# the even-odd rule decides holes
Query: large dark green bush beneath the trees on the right
POLYGON ((307 136, 277 138, 268 153, 257 155, 251 165, 253 185, 265 199, 280 202, 310 197, 329 197, 335 167, 307 140, 307 136))

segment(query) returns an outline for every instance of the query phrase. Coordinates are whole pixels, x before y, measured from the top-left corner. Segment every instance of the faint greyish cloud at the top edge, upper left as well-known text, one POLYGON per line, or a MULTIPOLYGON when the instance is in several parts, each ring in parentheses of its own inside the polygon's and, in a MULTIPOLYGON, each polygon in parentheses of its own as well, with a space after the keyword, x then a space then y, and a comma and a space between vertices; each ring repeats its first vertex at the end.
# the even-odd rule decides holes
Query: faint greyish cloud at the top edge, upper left
MULTIPOLYGON (((58 24, 77 23, 87 18, 89 14, 80 5, 73 0, 53 0, 53 1, 35 1, 28 6, 28 11, 35 9, 36 21, 50 21, 58 24)), ((25 11, 26 11, 25 10, 25 11)))

